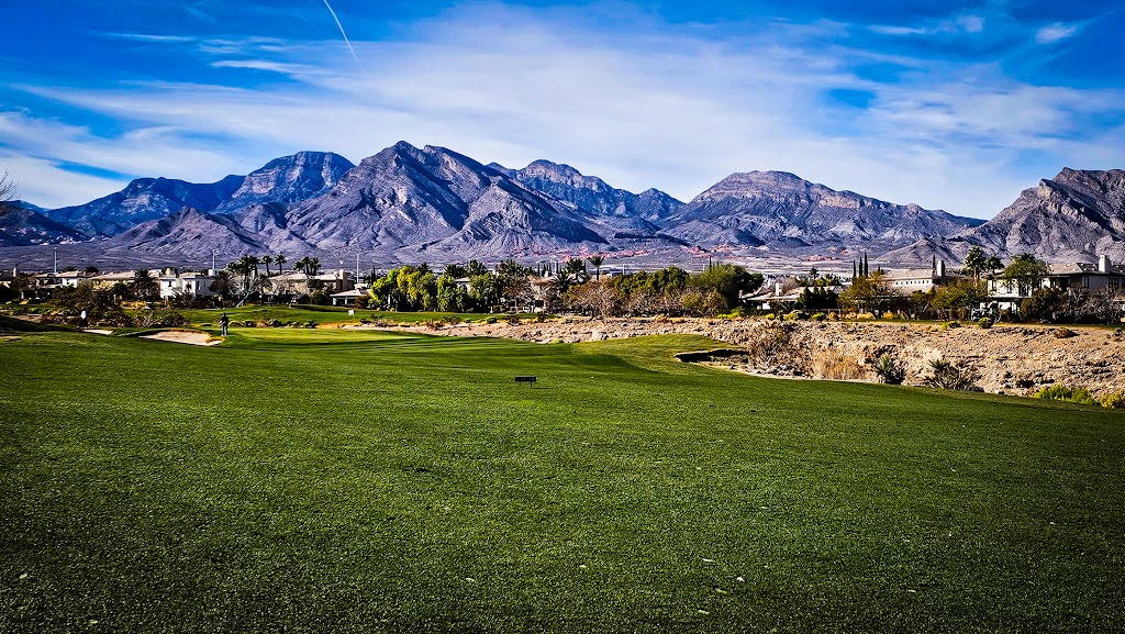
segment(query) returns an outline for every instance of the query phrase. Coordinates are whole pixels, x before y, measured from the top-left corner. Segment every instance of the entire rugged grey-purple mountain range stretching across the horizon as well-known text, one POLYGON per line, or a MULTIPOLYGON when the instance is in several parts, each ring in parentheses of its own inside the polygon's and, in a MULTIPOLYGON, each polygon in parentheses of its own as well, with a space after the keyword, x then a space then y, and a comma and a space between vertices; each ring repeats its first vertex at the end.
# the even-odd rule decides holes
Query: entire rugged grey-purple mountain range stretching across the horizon
POLYGON ((164 264, 266 252, 440 264, 585 252, 850 259, 860 251, 928 262, 934 255, 957 259, 973 244, 1088 261, 1123 250, 1123 199, 1120 170, 1063 170, 984 223, 753 171, 684 203, 546 160, 512 169, 399 142, 359 164, 299 152, 210 184, 141 178, 84 205, 19 204, 0 215, 0 260, 65 243, 88 260, 164 264))

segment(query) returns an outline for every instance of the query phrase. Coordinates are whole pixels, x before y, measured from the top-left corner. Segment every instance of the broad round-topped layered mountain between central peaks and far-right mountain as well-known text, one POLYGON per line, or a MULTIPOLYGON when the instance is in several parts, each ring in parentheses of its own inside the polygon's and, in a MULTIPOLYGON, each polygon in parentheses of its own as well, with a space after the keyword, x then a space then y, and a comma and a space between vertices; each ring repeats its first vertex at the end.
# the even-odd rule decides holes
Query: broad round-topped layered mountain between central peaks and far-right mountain
POLYGON ((771 171, 724 178, 670 215, 667 232, 701 245, 892 247, 948 235, 980 222, 836 191, 792 173, 771 171))

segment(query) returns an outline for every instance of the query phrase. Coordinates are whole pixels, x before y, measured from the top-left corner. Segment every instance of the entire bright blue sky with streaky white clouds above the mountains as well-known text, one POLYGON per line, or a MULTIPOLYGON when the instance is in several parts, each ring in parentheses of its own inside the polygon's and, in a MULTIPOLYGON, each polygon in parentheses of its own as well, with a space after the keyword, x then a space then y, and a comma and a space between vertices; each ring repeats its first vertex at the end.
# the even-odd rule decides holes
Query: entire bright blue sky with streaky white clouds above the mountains
POLYGON ((1119 2, 7 0, 0 169, 78 204, 392 143, 691 199, 785 170, 990 217, 1125 168, 1119 2))

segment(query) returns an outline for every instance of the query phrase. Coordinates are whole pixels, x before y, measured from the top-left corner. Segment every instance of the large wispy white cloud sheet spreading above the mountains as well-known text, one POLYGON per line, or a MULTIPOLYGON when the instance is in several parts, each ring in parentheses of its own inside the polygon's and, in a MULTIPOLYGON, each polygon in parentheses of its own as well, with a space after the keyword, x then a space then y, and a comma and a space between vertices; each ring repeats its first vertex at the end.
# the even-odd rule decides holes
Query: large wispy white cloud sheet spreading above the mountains
MULTIPOLYGON (((1125 162, 1119 131, 1082 136, 1084 119, 1125 101, 1119 91, 1035 88, 1006 79, 999 66, 845 48, 824 37, 840 25, 772 24, 739 41, 708 39, 706 29, 611 37, 557 11, 548 20, 489 6, 503 27, 482 21, 482 11, 447 14, 406 42, 354 42, 367 73, 334 41, 213 39, 204 53, 222 57, 208 61, 214 66, 295 81, 25 87, 127 122, 130 132, 102 137, 8 114, 0 136, 43 160, 196 181, 299 150, 358 161, 398 140, 511 167, 546 158, 616 187, 658 187, 684 199, 734 171, 777 169, 978 216, 1053 176, 1038 164, 1014 167, 1023 152, 1058 157, 1052 169, 1091 155, 1104 167, 1125 162), (251 51, 252 60, 230 57, 251 51), (854 75, 849 64, 860 62, 912 70, 883 84, 854 75), (824 96, 831 88, 871 91, 872 107, 832 109, 824 96)), ((983 19, 969 18, 957 28, 983 28, 983 19)), ((89 185, 75 185, 68 202, 89 199, 81 198, 89 185)))

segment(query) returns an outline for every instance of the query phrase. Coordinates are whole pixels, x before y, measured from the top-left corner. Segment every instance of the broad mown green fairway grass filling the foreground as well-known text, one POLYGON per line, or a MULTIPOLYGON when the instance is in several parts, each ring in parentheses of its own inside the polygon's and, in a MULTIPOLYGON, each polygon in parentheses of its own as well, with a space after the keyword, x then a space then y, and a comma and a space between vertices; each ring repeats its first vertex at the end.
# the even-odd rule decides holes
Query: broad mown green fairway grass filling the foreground
POLYGON ((1120 412, 717 346, 0 332, 0 632, 1125 627, 1120 412))

